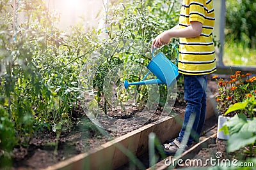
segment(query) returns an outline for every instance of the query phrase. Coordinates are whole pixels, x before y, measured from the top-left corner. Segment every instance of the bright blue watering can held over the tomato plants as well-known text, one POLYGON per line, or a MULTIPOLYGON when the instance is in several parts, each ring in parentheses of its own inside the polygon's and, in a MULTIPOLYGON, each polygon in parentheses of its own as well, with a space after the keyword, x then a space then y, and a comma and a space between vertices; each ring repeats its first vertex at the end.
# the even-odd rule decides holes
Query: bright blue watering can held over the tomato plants
MULTIPOLYGON (((172 43, 170 45, 174 46, 172 43)), ((175 64, 173 64, 164 53, 159 52, 156 56, 154 56, 154 50, 152 50, 152 60, 148 63, 147 69, 149 69, 148 73, 144 76, 141 81, 129 83, 127 80, 124 81, 124 87, 127 89, 130 85, 150 85, 150 84, 165 84, 167 87, 171 87, 180 77, 180 73, 178 73, 178 57, 179 52, 177 48, 174 46, 177 51, 177 60, 175 64), (151 80, 145 80, 148 74, 153 73, 157 78, 151 80)))

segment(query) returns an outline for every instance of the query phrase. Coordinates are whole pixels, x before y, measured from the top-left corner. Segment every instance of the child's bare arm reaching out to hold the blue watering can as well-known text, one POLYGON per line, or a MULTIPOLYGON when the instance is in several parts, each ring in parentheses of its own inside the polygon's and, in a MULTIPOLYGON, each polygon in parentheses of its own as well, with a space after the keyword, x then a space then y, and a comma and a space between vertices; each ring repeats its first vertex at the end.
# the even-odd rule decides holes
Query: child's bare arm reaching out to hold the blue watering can
POLYGON ((200 36, 202 28, 203 24, 198 21, 193 21, 189 27, 184 27, 182 29, 178 29, 178 26, 176 25, 172 29, 159 34, 152 42, 152 49, 154 46, 159 48, 162 45, 168 45, 172 38, 194 38, 200 36))

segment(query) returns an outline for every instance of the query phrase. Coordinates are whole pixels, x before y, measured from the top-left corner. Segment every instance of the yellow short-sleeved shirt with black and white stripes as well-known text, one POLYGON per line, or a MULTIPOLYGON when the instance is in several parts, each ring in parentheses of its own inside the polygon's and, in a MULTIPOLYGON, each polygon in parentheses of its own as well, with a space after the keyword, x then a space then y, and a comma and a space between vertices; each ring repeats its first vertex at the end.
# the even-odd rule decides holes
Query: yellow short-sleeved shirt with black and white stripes
POLYGON ((212 0, 183 0, 180 10, 180 28, 192 21, 203 24, 202 33, 195 38, 180 38, 179 73, 209 74, 216 71, 212 31, 215 17, 212 0))

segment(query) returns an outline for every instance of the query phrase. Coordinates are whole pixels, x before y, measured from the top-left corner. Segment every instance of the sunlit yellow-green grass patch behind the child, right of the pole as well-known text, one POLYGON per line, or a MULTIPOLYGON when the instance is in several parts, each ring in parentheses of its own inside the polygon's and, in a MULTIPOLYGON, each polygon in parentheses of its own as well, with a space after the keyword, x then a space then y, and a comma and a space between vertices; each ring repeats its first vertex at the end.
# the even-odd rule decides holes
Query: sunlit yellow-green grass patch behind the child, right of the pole
POLYGON ((251 49, 243 43, 226 42, 224 46, 223 63, 225 66, 256 66, 256 49, 251 49))

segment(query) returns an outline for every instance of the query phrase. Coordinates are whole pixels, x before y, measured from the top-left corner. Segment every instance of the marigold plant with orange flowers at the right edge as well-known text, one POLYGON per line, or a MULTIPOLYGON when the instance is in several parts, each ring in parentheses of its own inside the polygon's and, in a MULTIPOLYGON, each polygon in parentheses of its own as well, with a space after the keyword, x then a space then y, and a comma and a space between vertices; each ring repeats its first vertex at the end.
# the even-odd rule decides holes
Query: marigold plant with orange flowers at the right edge
MULTIPOLYGON (((216 80, 218 85, 216 101, 220 115, 224 115, 230 105, 242 102, 256 94, 256 76, 252 76, 252 73, 241 74, 241 71, 236 71, 229 76, 228 80, 219 78, 217 75, 212 76, 212 79, 216 80)), ((226 116, 233 117, 237 113, 240 112, 233 111, 226 116)), ((249 117, 247 113, 244 114, 249 117)))

